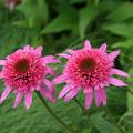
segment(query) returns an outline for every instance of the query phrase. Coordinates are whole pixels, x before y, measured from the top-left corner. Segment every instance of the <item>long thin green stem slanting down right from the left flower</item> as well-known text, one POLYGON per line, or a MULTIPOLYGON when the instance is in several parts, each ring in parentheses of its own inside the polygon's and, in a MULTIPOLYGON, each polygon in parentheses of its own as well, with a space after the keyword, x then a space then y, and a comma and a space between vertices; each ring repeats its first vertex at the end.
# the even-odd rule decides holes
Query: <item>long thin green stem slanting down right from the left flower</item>
POLYGON ((45 109, 49 111, 49 113, 61 124, 63 125, 69 133, 75 133, 75 131, 70 127, 69 125, 66 125, 62 120, 60 120, 60 117, 58 115, 55 115, 55 113, 51 110, 51 108, 48 105, 48 103, 44 101, 43 96, 39 93, 35 92, 38 98, 41 100, 42 104, 45 106, 45 109))

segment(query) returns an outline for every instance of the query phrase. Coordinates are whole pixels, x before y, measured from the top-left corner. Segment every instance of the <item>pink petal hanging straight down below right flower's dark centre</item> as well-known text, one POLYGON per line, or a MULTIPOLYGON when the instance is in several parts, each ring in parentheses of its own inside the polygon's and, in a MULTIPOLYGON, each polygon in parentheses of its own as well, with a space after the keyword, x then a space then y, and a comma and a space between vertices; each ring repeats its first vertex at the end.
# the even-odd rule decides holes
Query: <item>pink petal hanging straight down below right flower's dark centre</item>
POLYGON ((90 91, 90 93, 85 95, 85 109, 89 109, 91 106, 92 100, 93 100, 93 91, 90 91))

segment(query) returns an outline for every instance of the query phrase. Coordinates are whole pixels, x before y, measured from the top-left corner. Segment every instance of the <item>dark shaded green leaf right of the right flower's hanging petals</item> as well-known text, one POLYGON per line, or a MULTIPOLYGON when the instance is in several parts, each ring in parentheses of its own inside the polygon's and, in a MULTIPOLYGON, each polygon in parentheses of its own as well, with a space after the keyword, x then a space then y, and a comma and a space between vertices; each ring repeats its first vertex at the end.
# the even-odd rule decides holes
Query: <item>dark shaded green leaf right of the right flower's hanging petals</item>
POLYGON ((106 90, 108 110, 115 120, 119 120, 127 110, 126 94, 127 91, 123 88, 110 86, 110 89, 106 90))

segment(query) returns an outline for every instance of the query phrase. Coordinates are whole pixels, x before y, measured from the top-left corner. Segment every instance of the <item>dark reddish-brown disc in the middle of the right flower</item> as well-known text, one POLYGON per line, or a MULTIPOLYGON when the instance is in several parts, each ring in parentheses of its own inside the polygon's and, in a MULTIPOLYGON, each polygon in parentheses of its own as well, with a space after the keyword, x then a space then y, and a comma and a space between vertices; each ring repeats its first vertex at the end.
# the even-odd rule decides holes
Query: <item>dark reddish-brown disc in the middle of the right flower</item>
POLYGON ((90 71, 90 70, 93 70, 94 66, 95 66, 95 61, 91 58, 88 58, 88 59, 84 59, 81 61, 80 63, 80 69, 82 71, 90 71))

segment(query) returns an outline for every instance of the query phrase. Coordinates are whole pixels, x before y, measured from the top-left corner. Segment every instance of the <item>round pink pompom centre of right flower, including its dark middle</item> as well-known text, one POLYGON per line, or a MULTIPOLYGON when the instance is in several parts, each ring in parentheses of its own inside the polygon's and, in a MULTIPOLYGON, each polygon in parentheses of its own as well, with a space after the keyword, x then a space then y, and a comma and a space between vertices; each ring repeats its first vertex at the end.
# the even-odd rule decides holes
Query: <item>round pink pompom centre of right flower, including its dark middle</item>
POLYGON ((70 59, 65 72, 78 85, 91 86, 106 82, 112 63, 99 50, 79 50, 70 59))

